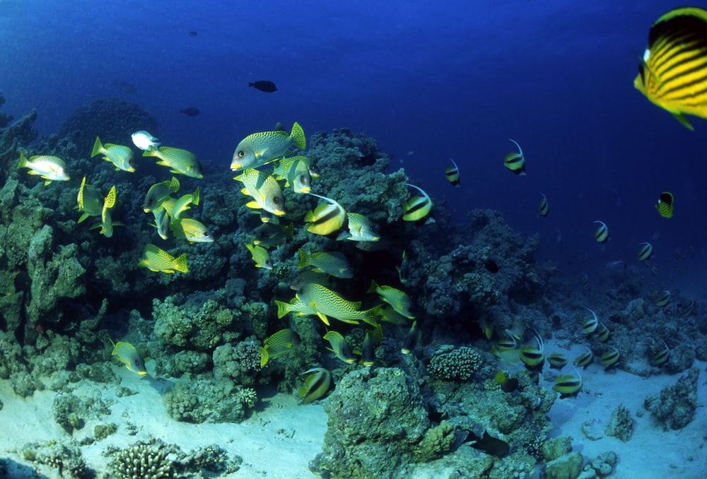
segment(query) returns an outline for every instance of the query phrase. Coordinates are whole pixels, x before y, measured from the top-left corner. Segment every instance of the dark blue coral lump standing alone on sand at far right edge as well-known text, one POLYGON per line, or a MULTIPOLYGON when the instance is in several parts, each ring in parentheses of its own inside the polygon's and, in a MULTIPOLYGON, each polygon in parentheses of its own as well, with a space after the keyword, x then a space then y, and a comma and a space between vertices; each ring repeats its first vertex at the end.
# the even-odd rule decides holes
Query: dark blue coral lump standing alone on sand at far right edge
POLYGON ((645 398, 645 408, 658 419, 667 430, 682 429, 695 416, 697 401, 697 380, 700 370, 692 368, 673 386, 668 386, 660 394, 645 398))

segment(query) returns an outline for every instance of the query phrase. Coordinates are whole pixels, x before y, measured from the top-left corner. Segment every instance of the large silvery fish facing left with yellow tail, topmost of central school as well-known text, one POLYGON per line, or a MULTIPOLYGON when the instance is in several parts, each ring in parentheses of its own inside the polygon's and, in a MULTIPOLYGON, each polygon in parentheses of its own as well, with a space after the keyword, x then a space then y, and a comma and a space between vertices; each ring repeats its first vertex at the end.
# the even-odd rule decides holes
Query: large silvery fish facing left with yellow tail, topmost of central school
POLYGON ((233 152, 230 169, 233 171, 257 168, 277 158, 282 158, 296 146, 300 150, 307 148, 305 132, 295 122, 288 135, 286 131, 261 131, 253 133, 240 141, 233 152))

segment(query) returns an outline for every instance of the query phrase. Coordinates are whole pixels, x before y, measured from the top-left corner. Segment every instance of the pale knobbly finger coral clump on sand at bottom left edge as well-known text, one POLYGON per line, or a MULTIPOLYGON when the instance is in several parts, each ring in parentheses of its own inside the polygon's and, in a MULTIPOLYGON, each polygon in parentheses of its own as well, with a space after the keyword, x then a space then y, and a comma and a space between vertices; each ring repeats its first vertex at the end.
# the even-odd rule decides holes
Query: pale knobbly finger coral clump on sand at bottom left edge
POLYGON ((118 479, 162 479, 174 476, 165 444, 138 442, 115 454, 110 468, 118 479))

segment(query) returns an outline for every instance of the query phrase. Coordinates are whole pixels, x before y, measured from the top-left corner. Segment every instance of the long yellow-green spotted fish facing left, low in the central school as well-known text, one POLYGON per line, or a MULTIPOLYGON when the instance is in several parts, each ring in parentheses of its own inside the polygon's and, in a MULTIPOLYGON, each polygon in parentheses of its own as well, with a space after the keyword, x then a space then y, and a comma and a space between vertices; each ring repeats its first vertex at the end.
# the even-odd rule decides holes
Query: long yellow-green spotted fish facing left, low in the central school
POLYGON ((329 317, 349 324, 359 324, 360 321, 375 322, 378 312, 378 307, 361 311, 360 301, 345 300, 339 293, 317 283, 303 285, 297 291, 296 297, 307 304, 327 326, 330 326, 329 317))

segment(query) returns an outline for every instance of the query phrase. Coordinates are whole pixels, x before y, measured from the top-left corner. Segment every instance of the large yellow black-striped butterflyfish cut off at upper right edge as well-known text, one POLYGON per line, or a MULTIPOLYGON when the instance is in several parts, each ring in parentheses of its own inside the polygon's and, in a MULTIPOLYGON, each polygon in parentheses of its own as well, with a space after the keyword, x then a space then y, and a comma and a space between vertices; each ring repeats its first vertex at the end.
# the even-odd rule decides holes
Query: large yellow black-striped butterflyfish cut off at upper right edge
POLYGON ((687 129, 685 114, 707 118, 707 11, 683 7, 650 26, 633 86, 687 129))

